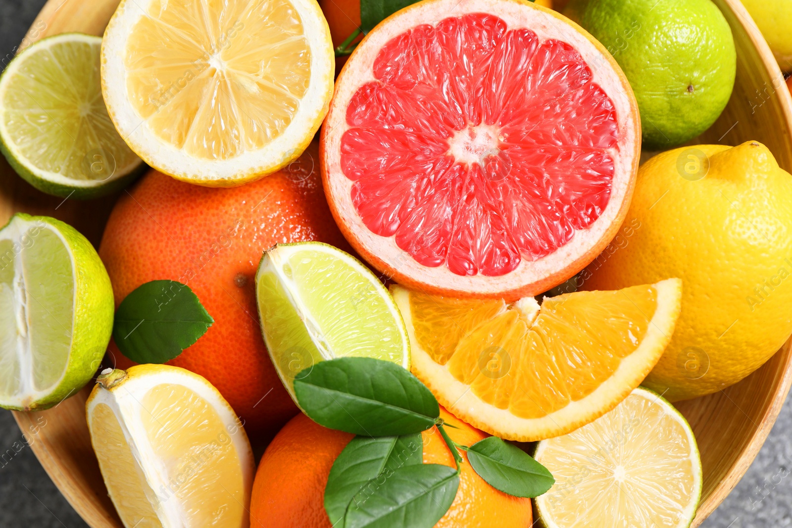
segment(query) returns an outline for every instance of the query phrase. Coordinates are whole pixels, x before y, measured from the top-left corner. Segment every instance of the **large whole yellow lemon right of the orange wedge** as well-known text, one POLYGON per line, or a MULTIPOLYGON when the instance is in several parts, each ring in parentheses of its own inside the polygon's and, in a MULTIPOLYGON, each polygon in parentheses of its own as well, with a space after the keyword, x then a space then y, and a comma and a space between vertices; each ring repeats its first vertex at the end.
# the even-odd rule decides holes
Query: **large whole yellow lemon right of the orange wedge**
POLYGON ((619 235, 585 290, 682 279, 671 343, 644 385, 670 401, 759 368, 792 333, 792 176, 760 142, 669 150, 638 171, 619 235))

